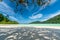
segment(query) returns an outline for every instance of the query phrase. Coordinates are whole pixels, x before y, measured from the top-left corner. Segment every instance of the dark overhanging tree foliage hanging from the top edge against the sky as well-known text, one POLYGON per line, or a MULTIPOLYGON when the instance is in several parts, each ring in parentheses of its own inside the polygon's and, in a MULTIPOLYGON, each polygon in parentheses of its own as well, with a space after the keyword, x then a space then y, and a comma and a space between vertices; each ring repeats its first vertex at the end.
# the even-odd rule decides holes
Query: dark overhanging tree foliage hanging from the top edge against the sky
MULTIPOLYGON (((24 9, 23 9, 23 7, 21 8, 21 9, 18 9, 18 6, 20 5, 20 4, 22 4, 25 8, 27 8, 29 5, 32 5, 32 4, 37 4, 38 6, 42 6, 42 5, 45 5, 45 0, 44 0, 44 2, 42 1, 42 0, 32 0, 31 2, 29 2, 28 0, 10 0, 10 2, 13 2, 13 3, 15 3, 15 9, 14 9, 14 12, 18 12, 18 11, 23 11, 24 9)), ((22 14, 22 12, 21 12, 21 14, 22 14)))

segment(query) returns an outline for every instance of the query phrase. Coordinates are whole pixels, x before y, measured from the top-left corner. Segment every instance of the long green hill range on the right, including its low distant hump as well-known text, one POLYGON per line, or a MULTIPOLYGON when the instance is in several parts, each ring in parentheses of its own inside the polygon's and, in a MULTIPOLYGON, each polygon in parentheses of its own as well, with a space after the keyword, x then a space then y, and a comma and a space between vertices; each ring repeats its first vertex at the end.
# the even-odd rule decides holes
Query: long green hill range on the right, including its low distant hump
POLYGON ((47 21, 44 22, 40 22, 40 21, 36 21, 36 22, 32 22, 31 24, 60 24, 60 15, 55 16, 47 21))

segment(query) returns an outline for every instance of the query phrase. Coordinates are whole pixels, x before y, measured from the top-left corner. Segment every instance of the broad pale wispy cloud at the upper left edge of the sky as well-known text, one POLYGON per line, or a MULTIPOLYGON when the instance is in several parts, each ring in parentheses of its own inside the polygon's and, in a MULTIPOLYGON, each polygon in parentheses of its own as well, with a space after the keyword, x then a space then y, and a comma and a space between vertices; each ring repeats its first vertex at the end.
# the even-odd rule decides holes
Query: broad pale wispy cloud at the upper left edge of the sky
POLYGON ((5 2, 1 2, 0 3, 0 11, 4 12, 4 13, 15 14, 15 12, 13 11, 13 9, 11 7, 9 7, 5 2))

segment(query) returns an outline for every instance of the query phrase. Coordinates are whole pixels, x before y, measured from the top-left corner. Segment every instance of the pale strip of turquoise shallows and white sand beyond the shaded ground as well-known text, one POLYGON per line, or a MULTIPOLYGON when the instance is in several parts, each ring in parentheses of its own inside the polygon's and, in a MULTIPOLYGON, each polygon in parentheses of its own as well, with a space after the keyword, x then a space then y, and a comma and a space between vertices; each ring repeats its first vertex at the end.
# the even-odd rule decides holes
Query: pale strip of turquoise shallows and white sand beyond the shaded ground
POLYGON ((0 24, 0 28, 20 28, 20 27, 34 27, 34 28, 53 28, 60 29, 60 24, 0 24), (40 26, 39 26, 40 25, 40 26))

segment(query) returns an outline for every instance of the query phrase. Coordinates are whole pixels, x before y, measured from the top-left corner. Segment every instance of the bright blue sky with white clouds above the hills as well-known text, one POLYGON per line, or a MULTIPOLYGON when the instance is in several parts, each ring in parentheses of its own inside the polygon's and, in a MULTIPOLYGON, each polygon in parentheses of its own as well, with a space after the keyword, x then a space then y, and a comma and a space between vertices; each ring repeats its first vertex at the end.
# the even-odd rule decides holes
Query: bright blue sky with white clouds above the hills
POLYGON ((19 23, 46 21, 56 15, 60 15, 60 0, 51 0, 51 3, 42 7, 37 6, 37 4, 29 4, 29 6, 24 7, 20 4, 17 9, 23 8, 24 10, 21 12, 16 12, 15 5, 15 2, 3 0, 3 2, 0 2, 0 13, 4 14, 4 16, 9 15, 10 20, 15 20, 19 23))

